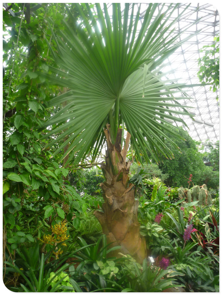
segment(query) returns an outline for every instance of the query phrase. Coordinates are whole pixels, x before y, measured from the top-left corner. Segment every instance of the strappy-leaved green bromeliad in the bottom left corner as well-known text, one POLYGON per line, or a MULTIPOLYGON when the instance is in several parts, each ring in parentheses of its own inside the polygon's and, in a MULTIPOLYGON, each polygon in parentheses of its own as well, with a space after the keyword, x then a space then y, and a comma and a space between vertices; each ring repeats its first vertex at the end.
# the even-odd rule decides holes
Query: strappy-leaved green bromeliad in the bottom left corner
MULTIPOLYGON (((17 249, 18 257, 15 261, 5 261, 6 272, 10 275, 13 273, 19 279, 16 279, 14 287, 10 287, 14 292, 57 292, 61 289, 62 282, 66 280, 68 274, 64 271, 69 266, 63 260, 48 262, 51 253, 39 255, 39 244, 35 247, 26 249, 22 247, 21 252, 17 249), (61 275, 63 274, 63 275, 61 275), (20 286, 17 286, 17 283, 20 286)), ((73 280, 71 281, 73 283, 73 280)), ((76 283, 74 282, 74 285, 76 283)), ((75 290, 73 286, 63 284, 64 290, 75 290)), ((78 291, 78 289, 77 289, 78 291)))

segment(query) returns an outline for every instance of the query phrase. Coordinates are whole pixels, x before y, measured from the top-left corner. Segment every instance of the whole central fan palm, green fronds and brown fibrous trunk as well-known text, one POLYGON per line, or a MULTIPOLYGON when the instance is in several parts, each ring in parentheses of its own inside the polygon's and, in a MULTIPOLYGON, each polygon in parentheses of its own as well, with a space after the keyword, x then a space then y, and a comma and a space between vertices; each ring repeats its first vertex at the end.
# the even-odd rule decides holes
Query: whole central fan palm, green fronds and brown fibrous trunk
POLYGON ((139 159, 142 154, 149 161, 147 151, 156 160, 160 153, 173 157, 164 143, 164 132, 176 134, 165 119, 183 122, 175 115, 189 113, 177 102, 182 98, 178 89, 184 85, 164 80, 161 65, 188 39, 178 41, 183 32, 174 29, 187 8, 174 18, 179 4, 149 4, 139 29, 140 5, 136 17, 136 4, 126 3, 121 9, 120 3, 113 3, 112 17, 106 4, 103 9, 95 4, 96 13, 88 4, 86 7, 88 19, 76 4, 79 25, 74 30, 64 20, 61 37, 53 36, 56 66, 50 66, 52 75, 48 78, 68 90, 49 101, 49 107, 63 107, 43 127, 51 126, 47 136, 54 139, 49 145, 63 139, 55 154, 68 145, 61 161, 68 156, 67 163, 73 165, 90 152, 94 161, 106 142, 101 165, 104 205, 95 216, 108 242, 121 245, 120 252, 130 253, 141 262, 146 245, 140 236, 138 200, 135 186, 129 183, 131 162, 126 155, 131 141, 139 159))

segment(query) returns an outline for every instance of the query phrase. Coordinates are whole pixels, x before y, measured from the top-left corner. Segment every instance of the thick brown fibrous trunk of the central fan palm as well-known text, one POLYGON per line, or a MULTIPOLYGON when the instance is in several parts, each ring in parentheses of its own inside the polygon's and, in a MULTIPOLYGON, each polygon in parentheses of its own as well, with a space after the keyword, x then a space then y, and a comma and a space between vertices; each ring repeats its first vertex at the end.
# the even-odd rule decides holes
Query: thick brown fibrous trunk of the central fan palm
POLYGON ((105 129, 107 142, 106 161, 101 165, 105 181, 100 184, 103 191, 103 212, 95 211, 95 217, 106 234, 107 243, 120 245, 118 252, 132 255, 142 263, 146 257, 146 243, 140 236, 140 224, 137 218, 139 201, 135 200, 135 186, 129 183, 131 162, 126 162, 126 155, 131 135, 127 133, 125 146, 121 147, 122 129, 118 129, 115 144, 111 143, 109 125, 105 129))

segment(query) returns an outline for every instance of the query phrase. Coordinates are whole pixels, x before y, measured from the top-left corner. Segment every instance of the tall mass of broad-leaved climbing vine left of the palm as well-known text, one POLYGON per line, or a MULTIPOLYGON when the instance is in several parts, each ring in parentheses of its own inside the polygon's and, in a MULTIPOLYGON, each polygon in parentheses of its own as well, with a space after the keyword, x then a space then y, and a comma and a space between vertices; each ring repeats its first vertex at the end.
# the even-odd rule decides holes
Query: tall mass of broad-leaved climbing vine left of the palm
POLYGON ((37 131, 54 111, 46 108, 47 101, 61 92, 37 72, 49 71, 52 59, 44 33, 50 18, 55 21, 54 31, 62 30, 59 19, 64 6, 31 3, 30 14, 27 5, 12 3, 10 10, 3 11, 3 256, 6 248, 13 254, 22 243, 41 238, 39 222, 47 234, 57 220, 70 221, 73 213, 84 211, 81 197, 63 181, 69 169, 51 159, 58 146, 44 149, 47 140, 41 140, 37 131), (23 8, 30 20, 23 18, 23 8))

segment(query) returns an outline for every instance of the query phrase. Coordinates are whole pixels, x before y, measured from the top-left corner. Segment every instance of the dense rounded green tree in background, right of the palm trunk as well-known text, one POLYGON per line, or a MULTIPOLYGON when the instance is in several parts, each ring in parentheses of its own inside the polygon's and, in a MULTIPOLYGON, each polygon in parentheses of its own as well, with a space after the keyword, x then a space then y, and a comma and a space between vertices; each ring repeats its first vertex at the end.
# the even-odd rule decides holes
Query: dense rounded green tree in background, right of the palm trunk
MULTIPOLYGON (((206 166, 203 162, 203 153, 199 151, 199 142, 194 141, 187 131, 182 127, 179 129, 170 127, 178 135, 182 135, 186 141, 178 139, 172 135, 173 141, 178 148, 173 147, 169 141, 165 141, 167 146, 172 150, 174 158, 166 159, 161 157, 159 169, 163 174, 168 174, 166 184, 169 186, 183 186, 187 187, 188 175, 192 174, 192 183, 194 185, 202 185, 206 183, 209 188, 217 188, 219 186, 219 175, 217 171, 213 171, 212 167, 206 166), (186 165, 185 165, 186 163, 186 165)), ((216 151, 218 152, 218 146, 216 151)), ((214 151, 214 153, 216 153, 214 151)), ((151 157, 151 155, 150 155, 151 157)), ((152 157, 151 157, 152 158, 152 157)), ((219 155, 215 157, 218 163, 219 155)))

